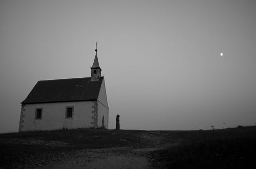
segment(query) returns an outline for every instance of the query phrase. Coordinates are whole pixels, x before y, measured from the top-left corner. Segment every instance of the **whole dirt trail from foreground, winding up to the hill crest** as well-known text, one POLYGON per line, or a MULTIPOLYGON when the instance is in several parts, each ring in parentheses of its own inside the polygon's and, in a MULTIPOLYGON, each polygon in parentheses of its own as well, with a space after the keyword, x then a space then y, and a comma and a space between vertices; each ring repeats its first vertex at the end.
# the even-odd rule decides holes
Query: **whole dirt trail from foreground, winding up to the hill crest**
POLYGON ((152 168, 148 154, 166 147, 166 144, 162 144, 164 134, 143 133, 138 136, 148 141, 146 147, 80 150, 69 160, 48 163, 37 168, 152 168))

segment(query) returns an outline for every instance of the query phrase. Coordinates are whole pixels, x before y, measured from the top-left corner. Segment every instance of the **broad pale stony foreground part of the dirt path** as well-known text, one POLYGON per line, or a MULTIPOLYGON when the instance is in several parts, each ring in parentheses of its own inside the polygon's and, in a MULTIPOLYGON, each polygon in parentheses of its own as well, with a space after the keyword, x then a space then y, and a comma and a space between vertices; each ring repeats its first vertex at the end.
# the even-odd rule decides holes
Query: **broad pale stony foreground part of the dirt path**
POLYGON ((37 168, 151 168, 145 153, 129 148, 90 149, 78 151, 67 161, 49 163, 37 168))

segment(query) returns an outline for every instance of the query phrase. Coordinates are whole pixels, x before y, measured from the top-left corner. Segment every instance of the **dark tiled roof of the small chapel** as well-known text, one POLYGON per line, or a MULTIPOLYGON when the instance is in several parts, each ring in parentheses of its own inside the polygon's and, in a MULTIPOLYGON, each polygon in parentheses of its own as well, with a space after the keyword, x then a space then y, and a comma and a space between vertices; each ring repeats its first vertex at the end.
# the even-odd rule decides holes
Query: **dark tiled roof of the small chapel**
POLYGON ((96 100, 103 77, 40 80, 22 104, 96 100))

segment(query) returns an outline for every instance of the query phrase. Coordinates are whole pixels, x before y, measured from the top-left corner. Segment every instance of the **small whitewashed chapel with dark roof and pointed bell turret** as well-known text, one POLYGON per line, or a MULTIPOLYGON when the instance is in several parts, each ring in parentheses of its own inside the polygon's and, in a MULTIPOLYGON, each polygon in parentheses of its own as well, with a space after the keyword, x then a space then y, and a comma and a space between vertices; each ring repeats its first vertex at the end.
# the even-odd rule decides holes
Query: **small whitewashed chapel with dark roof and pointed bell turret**
POLYGON ((91 77, 36 83, 21 103, 19 131, 109 127, 105 82, 95 51, 91 77))

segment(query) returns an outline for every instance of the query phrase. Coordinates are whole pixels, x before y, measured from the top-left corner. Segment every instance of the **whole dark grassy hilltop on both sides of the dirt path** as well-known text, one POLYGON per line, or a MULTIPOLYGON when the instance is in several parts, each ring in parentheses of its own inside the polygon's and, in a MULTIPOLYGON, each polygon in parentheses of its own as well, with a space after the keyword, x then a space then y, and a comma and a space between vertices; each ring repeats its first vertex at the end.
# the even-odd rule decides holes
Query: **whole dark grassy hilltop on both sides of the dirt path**
POLYGON ((72 129, 5 133, 0 134, 0 168, 34 168, 68 160, 80 150, 121 147, 146 150, 140 155, 146 156, 153 168, 253 168, 256 126, 195 131, 72 129))

